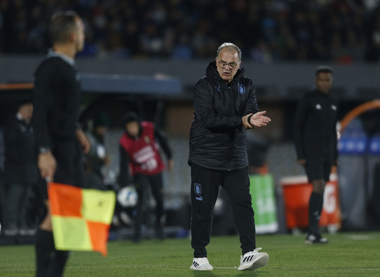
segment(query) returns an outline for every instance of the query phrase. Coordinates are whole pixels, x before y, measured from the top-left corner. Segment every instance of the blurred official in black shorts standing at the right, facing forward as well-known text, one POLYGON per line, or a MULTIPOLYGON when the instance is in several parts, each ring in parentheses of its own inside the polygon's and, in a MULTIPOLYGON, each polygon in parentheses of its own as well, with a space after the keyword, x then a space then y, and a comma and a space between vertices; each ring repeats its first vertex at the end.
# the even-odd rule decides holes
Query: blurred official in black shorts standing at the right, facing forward
POLYGON ((313 192, 309 200, 309 231, 306 243, 327 242, 318 231, 323 207, 323 192, 332 165, 336 164, 338 101, 329 94, 332 70, 320 66, 316 71, 317 89, 299 101, 294 120, 294 142, 299 164, 306 170, 313 192))

